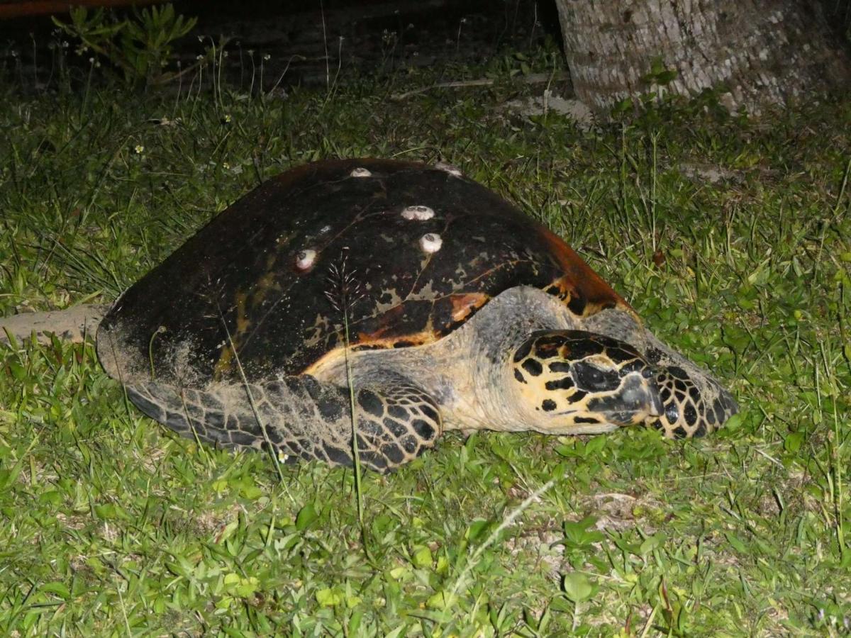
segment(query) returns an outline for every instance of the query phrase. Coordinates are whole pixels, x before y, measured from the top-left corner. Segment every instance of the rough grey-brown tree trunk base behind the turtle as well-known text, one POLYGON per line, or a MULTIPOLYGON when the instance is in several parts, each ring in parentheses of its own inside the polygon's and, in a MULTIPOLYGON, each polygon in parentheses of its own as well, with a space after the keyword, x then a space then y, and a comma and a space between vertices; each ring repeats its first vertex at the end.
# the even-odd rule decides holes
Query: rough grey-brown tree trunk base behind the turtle
POLYGON ((848 55, 802 0, 556 0, 577 97, 598 114, 654 91, 723 87, 730 111, 851 89, 848 55), (676 77, 651 87, 661 61, 676 77))

